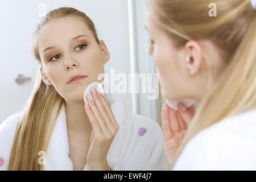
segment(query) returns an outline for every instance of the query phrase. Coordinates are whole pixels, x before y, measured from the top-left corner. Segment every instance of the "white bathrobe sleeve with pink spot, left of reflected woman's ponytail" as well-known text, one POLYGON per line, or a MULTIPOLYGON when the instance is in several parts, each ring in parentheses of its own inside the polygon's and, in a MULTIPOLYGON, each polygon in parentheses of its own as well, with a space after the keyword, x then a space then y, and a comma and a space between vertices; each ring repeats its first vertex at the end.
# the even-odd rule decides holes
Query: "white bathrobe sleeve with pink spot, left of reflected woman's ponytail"
POLYGON ((7 170, 14 134, 21 113, 11 115, 0 124, 0 171, 7 170))

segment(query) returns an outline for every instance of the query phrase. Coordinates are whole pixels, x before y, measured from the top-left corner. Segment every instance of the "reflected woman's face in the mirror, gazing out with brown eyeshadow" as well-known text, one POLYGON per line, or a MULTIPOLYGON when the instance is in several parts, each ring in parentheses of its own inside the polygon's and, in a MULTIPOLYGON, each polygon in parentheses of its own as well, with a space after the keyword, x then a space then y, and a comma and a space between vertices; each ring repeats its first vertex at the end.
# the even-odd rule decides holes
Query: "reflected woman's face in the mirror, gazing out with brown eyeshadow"
POLYGON ((82 20, 73 16, 53 19, 38 32, 38 49, 42 60, 43 80, 50 81, 65 101, 81 101, 86 87, 100 73, 109 60, 109 52, 101 40, 96 42, 82 20), (75 75, 87 76, 80 82, 68 84, 75 75))

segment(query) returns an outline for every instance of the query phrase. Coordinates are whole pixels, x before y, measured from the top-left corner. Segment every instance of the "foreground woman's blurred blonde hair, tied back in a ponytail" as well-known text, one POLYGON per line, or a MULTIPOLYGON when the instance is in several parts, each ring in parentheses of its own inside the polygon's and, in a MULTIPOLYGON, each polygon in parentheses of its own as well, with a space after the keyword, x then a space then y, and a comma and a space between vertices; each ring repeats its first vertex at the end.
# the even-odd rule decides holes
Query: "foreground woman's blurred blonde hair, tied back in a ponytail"
POLYGON ((256 107, 256 11, 250 0, 154 2, 154 22, 177 47, 188 40, 209 39, 222 50, 225 61, 224 72, 205 94, 177 148, 172 169, 185 144, 199 131, 256 107), (208 15, 210 3, 216 3, 217 16, 208 15))

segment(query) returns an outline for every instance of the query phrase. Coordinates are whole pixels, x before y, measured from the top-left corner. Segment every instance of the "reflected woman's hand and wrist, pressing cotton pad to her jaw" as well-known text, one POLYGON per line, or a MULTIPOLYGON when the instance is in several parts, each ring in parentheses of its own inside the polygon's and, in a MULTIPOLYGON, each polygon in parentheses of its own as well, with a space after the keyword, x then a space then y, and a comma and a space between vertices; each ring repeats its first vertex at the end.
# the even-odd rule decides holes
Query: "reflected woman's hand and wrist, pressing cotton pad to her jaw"
POLYGON ((106 157, 119 125, 104 96, 96 88, 92 88, 90 93, 93 101, 86 96, 88 105, 85 105, 85 110, 93 131, 86 160, 91 170, 110 170, 106 157))

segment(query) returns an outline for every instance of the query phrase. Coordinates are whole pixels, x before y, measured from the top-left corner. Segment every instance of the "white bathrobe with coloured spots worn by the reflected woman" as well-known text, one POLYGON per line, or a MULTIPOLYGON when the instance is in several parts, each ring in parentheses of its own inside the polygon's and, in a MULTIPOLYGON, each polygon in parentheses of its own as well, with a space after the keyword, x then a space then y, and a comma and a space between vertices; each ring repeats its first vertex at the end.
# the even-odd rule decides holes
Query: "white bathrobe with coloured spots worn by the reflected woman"
MULTIPOLYGON (((142 115, 127 112, 125 103, 118 94, 104 96, 119 125, 107 155, 109 167, 121 171, 168 170, 163 133, 159 124, 142 115)), ((7 169, 20 114, 21 112, 11 115, 0 125, 0 170, 7 169)), ((64 104, 46 152, 44 170, 73 170, 73 163, 69 158, 66 121, 64 104)), ((84 170, 90 170, 87 163, 84 170)))

